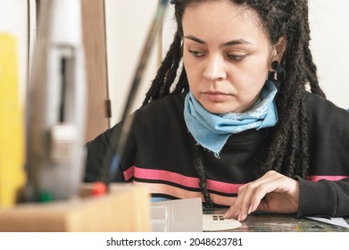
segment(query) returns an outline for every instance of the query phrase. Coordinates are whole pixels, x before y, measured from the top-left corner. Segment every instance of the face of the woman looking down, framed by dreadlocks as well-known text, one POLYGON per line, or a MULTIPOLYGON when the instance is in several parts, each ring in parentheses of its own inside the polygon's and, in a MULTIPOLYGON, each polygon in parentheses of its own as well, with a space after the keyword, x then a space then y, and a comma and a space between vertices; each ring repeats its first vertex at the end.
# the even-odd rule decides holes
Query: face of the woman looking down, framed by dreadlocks
POLYGON ((207 1, 183 15, 183 61, 190 90, 209 112, 245 112, 258 100, 272 46, 252 11, 207 1))

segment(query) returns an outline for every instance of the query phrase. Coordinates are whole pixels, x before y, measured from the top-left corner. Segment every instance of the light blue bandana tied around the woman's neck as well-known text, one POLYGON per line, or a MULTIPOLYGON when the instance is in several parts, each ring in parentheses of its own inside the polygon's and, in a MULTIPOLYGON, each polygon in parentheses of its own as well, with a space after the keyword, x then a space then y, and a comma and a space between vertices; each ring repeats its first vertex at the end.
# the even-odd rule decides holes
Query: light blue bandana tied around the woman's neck
POLYGON ((247 129, 273 127, 278 122, 274 97, 278 89, 267 80, 260 100, 246 112, 216 114, 208 112, 189 91, 184 103, 184 118, 187 129, 196 142, 219 157, 220 150, 232 134, 247 129))

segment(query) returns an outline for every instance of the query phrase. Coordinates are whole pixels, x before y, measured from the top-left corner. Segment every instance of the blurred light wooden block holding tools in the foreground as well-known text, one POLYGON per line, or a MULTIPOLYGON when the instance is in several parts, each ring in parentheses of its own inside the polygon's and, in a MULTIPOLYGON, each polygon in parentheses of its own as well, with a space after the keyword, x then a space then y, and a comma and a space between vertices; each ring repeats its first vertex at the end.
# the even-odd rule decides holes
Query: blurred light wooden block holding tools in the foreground
POLYGON ((104 196, 82 196, 50 204, 20 204, 0 209, 0 231, 112 232, 150 231, 150 197, 146 187, 114 184, 104 196))

